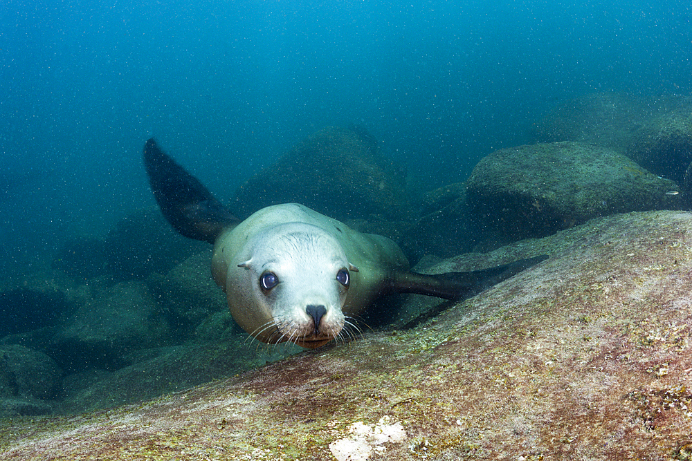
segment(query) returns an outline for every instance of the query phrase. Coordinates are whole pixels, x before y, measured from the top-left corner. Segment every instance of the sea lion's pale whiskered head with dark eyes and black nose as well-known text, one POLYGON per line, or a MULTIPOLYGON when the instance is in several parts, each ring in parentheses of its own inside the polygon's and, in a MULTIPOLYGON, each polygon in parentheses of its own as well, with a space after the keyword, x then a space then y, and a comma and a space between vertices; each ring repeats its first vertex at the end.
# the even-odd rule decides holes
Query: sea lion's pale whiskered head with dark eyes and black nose
POLYGON ((239 256, 242 274, 227 288, 228 305, 252 337, 316 348, 340 335, 358 269, 329 232, 306 223, 276 225, 252 236, 239 256))

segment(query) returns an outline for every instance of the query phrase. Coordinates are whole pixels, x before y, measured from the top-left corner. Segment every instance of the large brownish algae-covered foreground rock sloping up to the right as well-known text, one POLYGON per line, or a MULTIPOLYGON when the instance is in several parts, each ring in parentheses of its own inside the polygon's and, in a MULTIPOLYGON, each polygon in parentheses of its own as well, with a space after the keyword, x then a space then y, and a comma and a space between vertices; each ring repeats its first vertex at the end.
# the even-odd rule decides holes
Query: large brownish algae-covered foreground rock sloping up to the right
POLYGON ((651 211, 454 258, 438 269, 550 254, 413 330, 145 404, 3 420, 0 458, 684 460, 690 247, 692 214, 651 211))

